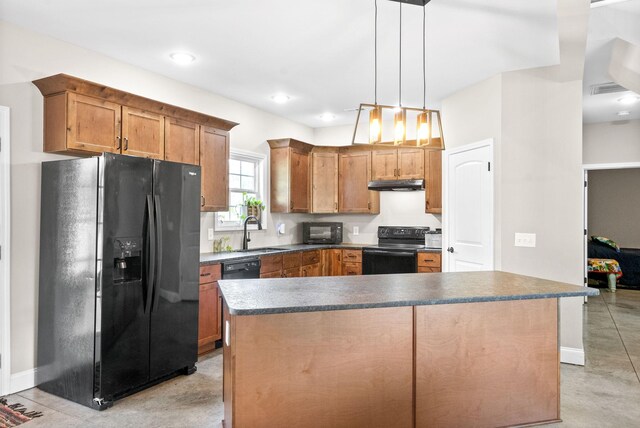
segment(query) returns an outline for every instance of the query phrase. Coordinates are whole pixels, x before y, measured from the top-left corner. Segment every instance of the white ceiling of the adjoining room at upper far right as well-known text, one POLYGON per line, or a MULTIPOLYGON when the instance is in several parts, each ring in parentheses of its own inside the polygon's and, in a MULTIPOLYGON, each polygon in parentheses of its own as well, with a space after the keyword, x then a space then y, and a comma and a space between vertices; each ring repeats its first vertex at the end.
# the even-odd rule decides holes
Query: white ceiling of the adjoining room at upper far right
POLYGON ((630 0, 591 9, 584 69, 583 119, 585 122, 611 122, 640 119, 640 103, 623 106, 618 99, 631 92, 591 95, 592 85, 611 82, 607 72, 615 38, 640 46, 640 0, 630 0), (629 116, 619 117, 621 110, 629 116))

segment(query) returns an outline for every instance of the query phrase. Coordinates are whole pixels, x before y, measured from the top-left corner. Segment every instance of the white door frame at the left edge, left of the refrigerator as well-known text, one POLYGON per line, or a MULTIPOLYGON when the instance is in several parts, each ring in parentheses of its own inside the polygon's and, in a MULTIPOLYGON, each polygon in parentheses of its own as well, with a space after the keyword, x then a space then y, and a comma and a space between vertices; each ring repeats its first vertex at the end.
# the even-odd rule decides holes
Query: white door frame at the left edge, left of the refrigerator
POLYGON ((10 110, 0 106, 0 396, 11 388, 11 140, 10 110))

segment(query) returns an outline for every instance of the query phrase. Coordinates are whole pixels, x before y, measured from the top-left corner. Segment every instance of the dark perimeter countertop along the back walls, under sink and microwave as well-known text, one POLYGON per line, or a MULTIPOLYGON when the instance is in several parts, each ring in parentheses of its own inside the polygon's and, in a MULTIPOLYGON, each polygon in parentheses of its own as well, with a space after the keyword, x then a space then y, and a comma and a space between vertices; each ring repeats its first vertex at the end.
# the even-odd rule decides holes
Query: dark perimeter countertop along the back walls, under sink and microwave
MULTIPOLYGON (((252 259, 259 256, 270 256, 273 254, 287 254, 287 253, 295 253, 299 251, 311 251, 311 250, 324 250, 324 249, 355 249, 359 250, 364 247, 377 247, 377 244, 351 244, 351 243, 342 243, 342 244, 333 244, 333 245, 315 245, 315 244, 291 244, 291 245, 276 245, 273 247, 265 247, 265 248, 273 248, 274 251, 260 251, 260 248, 255 248, 257 251, 229 251, 226 253, 200 253, 200 264, 201 265, 212 265, 217 263, 224 263, 229 261, 243 261, 247 259, 252 259)), ((419 253, 440 253, 442 250, 436 249, 419 249, 419 253)))

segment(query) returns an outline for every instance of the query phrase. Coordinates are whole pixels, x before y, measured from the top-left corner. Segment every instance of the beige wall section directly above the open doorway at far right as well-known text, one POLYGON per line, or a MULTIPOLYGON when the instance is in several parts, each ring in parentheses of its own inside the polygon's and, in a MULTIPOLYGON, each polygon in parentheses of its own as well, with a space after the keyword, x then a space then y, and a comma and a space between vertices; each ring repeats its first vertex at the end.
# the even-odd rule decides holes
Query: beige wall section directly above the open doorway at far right
POLYGON ((640 162, 640 120, 585 123, 582 162, 640 162))

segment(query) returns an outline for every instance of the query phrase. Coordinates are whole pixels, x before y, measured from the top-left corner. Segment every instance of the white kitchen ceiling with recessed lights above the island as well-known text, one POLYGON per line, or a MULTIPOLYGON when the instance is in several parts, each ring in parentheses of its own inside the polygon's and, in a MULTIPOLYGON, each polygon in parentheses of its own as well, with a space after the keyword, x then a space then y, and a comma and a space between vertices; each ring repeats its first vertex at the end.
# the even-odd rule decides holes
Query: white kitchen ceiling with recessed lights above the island
MULTIPOLYGON (((398 7, 378 0, 385 104, 398 102, 398 7)), ((432 0, 426 11, 431 107, 496 73, 559 61, 556 0, 432 0)), ((2 20, 312 127, 351 124, 345 110, 373 101, 373 17, 374 0, 0 1, 2 20), (197 60, 173 64, 179 50, 197 60), (280 92, 291 100, 273 103, 280 92)), ((421 106, 421 7, 403 6, 402 29, 402 101, 421 106)))

